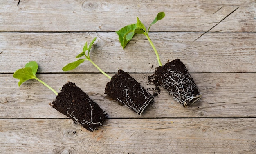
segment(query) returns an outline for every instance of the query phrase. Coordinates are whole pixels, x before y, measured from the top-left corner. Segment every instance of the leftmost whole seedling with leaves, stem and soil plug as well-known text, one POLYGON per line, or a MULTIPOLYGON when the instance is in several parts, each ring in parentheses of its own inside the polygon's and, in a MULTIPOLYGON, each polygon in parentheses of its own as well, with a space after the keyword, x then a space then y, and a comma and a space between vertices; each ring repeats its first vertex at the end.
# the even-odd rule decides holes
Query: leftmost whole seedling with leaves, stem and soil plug
POLYGON ((66 83, 63 85, 61 92, 57 93, 52 87, 36 77, 37 69, 36 61, 30 61, 24 68, 15 71, 13 77, 20 80, 18 82, 19 87, 29 79, 36 79, 57 95, 56 100, 50 104, 57 111, 70 117, 74 122, 81 124, 81 126, 90 131, 96 130, 103 125, 103 122, 108 117, 107 113, 75 83, 66 83))

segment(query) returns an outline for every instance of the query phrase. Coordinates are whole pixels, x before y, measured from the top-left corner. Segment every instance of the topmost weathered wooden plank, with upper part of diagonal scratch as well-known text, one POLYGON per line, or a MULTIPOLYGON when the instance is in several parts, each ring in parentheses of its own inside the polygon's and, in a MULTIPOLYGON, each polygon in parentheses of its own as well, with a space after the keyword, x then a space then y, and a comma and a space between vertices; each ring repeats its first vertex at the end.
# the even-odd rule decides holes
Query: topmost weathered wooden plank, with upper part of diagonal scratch
POLYGON ((256 31, 255 0, 1 0, 0 31, 116 31, 137 22, 152 31, 256 31), (236 10, 236 11, 235 11, 236 10), (214 27, 214 28, 213 28, 214 27))

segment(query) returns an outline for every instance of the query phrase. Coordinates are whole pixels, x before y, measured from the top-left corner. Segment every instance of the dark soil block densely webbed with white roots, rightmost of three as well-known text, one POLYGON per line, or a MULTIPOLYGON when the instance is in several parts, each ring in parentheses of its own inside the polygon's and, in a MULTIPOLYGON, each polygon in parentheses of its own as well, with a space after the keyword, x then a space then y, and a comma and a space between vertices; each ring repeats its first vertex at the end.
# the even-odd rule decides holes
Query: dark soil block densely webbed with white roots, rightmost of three
POLYGON ((190 106, 202 97, 202 93, 180 59, 157 67, 154 77, 154 85, 164 87, 183 107, 190 106))

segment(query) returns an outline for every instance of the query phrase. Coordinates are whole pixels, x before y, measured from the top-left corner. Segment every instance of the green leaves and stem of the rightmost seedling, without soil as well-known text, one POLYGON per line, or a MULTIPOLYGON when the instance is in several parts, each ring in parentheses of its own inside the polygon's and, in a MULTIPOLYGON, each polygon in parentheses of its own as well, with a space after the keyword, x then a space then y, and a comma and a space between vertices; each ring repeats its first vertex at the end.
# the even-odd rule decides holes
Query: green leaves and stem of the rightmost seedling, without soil
POLYGON ((123 49, 126 47, 127 43, 132 39, 132 37, 135 34, 143 34, 143 35, 145 35, 147 37, 150 45, 152 46, 153 50, 155 51, 155 55, 157 56, 157 61, 158 61, 159 66, 162 66, 162 63, 160 61, 159 55, 157 53, 157 50, 156 50, 153 42, 149 38, 148 33, 149 33, 150 27, 153 24, 155 24, 157 21, 163 19, 164 16, 165 16, 164 12, 159 12, 157 14, 157 16, 155 17, 155 19, 153 20, 153 22, 149 25, 148 30, 146 30, 146 27, 139 20, 138 17, 137 17, 137 23, 136 24, 131 24, 131 25, 125 26, 125 27, 121 28, 120 30, 118 30, 116 33, 119 36, 119 41, 120 41, 121 46, 123 47, 123 49))

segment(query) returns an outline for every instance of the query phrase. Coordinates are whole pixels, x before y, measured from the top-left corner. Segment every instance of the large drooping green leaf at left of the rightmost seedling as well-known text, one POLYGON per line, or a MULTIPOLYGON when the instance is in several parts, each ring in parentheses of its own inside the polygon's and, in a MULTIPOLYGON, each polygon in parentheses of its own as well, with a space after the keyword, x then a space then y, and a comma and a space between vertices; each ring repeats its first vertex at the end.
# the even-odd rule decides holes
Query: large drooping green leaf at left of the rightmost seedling
POLYGON ((137 28, 136 25, 137 25, 137 24, 127 25, 127 26, 121 28, 120 30, 116 31, 116 33, 117 33, 117 35, 118 35, 118 37, 119 37, 118 39, 119 39, 119 41, 120 41, 121 46, 123 47, 123 49, 124 49, 124 47, 127 45, 127 43, 130 41, 130 37, 131 37, 131 36, 133 37, 133 35, 132 35, 131 32, 134 32, 134 31, 135 31, 135 29, 137 28), (129 33, 131 33, 131 34, 129 34, 129 33), (129 34, 129 35, 128 35, 128 34, 129 34), (126 39, 126 36, 127 36, 127 35, 128 35, 129 40, 126 39))

